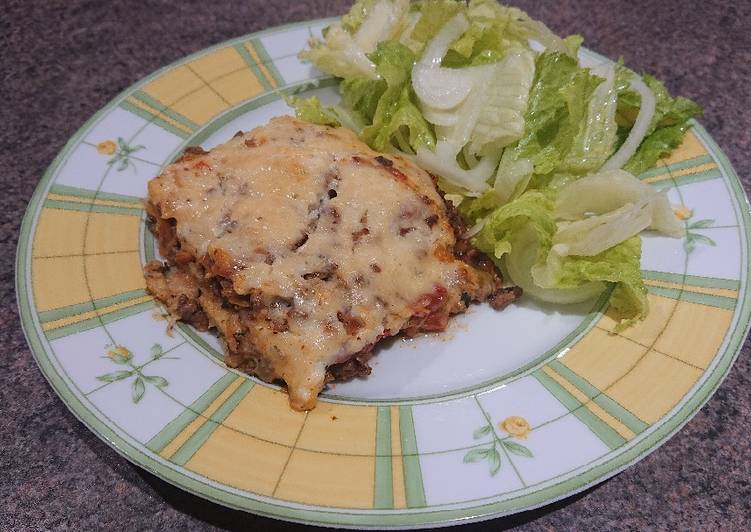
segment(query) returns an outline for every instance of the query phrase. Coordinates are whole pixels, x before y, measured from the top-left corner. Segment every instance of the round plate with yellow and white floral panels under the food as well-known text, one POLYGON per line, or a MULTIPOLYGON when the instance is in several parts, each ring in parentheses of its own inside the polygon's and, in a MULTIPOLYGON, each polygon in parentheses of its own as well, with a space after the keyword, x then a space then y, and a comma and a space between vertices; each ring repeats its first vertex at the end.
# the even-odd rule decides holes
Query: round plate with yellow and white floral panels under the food
MULTIPOLYGON (((686 423, 749 324, 749 209, 699 125, 640 176, 668 189, 683 240, 644 237, 649 318, 621 334, 602 300, 475 306, 444 334, 381 348, 371 377, 309 413, 222 363, 208 334, 167 333, 144 291, 156 256, 146 183, 186 146, 212 147, 336 98, 296 53, 329 21, 248 35, 117 96, 68 142, 23 221, 23 327, 52 387, 125 458, 214 502, 291 521, 446 525, 547 504, 616 474, 686 423)), ((584 51, 582 61, 607 61, 584 51)))

